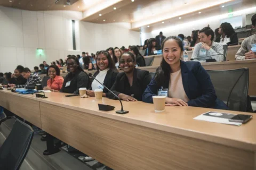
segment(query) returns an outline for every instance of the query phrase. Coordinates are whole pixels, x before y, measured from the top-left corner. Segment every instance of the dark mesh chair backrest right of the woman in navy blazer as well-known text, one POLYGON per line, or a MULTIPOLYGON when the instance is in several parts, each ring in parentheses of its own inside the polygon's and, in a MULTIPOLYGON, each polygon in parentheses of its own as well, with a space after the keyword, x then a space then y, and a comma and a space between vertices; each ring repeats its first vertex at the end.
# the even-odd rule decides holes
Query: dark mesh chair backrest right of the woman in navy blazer
POLYGON ((230 110, 246 112, 249 87, 249 69, 206 70, 210 75, 217 97, 230 110))

